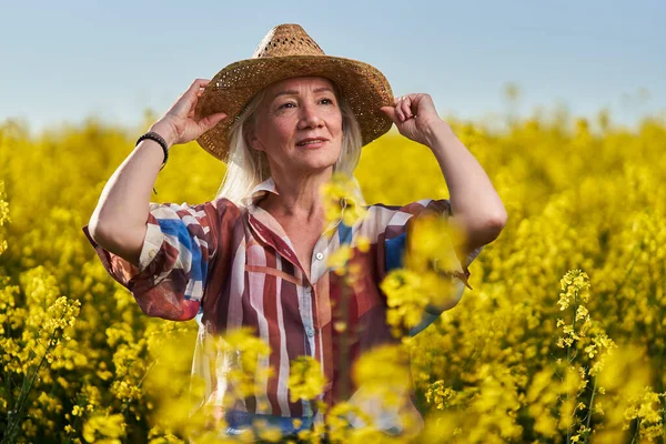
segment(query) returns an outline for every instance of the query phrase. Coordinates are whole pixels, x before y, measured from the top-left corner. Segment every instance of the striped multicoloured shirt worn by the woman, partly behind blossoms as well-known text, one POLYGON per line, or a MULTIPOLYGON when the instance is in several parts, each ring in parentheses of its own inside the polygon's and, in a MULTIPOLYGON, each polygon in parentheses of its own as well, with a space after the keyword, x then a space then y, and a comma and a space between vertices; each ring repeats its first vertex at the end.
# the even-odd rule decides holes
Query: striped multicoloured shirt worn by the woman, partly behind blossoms
MULTIPOLYGON (((398 341, 386 323, 386 299, 379 285, 391 270, 402 266, 407 222, 424 213, 451 215, 447 200, 370 205, 366 216, 353 226, 342 220, 331 223, 326 232, 333 235, 322 234, 314 246, 309 279, 280 223, 258 205, 266 193, 276 193, 272 179, 259 184, 244 205, 222 198, 195 205, 151 203, 139 268, 99 246, 88 225, 83 228, 105 270, 132 292, 144 313, 168 320, 196 319, 200 334, 193 375, 205 381, 202 403, 221 406, 226 401, 231 389, 224 374, 234 362, 229 354, 206 353, 206 337, 250 326, 270 345, 264 364, 273 367, 273 375, 259 384, 253 396, 234 401, 233 410, 226 412, 228 422, 240 418, 239 428, 252 417, 275 424, 294 417, 304 420, 302 424, 312 423, 314 404, 291 402, 287 389, 290 362, 301 355, 321 364, 329 382, 321 396, 324 402, 331 405, 349 398, 345 393, 354 398, 360 387, 351 385, 349 369, 363 352, 398 341), (357 248, 360 236, 370 240, 370 249, 357 248), (363 270, 352 289, 326 265, 342 245, 353 249, 352 261, 363 270), (344 313, 336 310, 343 303, 344 313), (346 325, 344 332, 334 327, 339 322, 346 325), (343 347, 344 369, 340 363, 343 347)), ((452 274, 456 278, 455 297, 462 296, 465 285, 471 289, 467 266, 482 249, 472 252, 460 272, 452 274)), ((426 311, 411 333, 438 315, 426 311)), ((406 392, 408 395, 411 387, 406 392)), ((417 415, 411 402, 410 407, 417 415)), ((380 427, 401 428, 397 412, 366 413, 380 427)))

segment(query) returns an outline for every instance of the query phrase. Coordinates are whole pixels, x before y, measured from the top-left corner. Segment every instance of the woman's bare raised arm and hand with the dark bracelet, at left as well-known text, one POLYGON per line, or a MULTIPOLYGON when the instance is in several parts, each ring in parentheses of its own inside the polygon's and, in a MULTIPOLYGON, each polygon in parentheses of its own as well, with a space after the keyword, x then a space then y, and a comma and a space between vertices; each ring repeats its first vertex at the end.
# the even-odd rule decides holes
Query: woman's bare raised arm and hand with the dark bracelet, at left
MULTIPOLYGON (((175 101, 171 109, 151 128, 169 147, 198 139, 226 115, 212 114, 199 122, 193 120, 196 100, 209 80, 198 79, 175 101)), ((115 170, 104 185, 94 209, 89 230, 103 249, 134 265, 145 236, 150 192, 164 159, 160 144, 144 140, 115 170)))

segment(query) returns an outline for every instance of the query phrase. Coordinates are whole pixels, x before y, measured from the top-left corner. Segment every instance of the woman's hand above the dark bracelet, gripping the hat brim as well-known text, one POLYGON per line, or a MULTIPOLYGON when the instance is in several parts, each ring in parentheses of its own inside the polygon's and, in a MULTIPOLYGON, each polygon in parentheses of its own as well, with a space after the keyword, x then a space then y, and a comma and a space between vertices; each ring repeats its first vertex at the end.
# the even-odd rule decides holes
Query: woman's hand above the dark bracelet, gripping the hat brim
POLYGON ((201 134, 215 127, 221 120, 226 118, 225 113, 206 115, 194 121, 194 108, 196 101, 203 93, 203 88, 209 84, 208 79, 196 79, 192 85, 171 105, 169 111, 151 127, 151 131, 167 140, 167 143, 175 145, 188 143, 199 139, 201 134))

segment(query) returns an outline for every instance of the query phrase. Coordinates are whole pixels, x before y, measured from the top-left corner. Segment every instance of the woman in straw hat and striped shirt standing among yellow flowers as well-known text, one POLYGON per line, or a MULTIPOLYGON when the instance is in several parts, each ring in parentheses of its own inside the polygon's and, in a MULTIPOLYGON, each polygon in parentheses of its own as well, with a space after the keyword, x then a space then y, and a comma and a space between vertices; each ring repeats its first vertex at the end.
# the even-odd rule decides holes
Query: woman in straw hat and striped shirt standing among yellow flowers
MULTIPOLYGON (((354 210, 353 203, 362 203, 360 192, 341 200, 341 212, 354 210)), ((210 355, 200 343, 194 371, 206 377, 203 402, 224 405, 228 433, 261 418, 286 435, 320 420, 316 404, 290 398, 290 362, 313 356, 329 382, 321 398, 353 402, 359 387, 349 369, 363 352, 396 341, 379 284, 402 265, 408 221, 432 212, 451 215, 466 243, 456 252, 460 269, 452 271, 458 294, 424 313, 420 329, 455 305, 470 262, 506 222, 504 206, 427 94, 394 99, 375 68, 325 56, 301 27, 282 24, 252 59, 228 65, 212 81, 194 81, 140 138, 84 231, 105 269, 147 314, 196 316, 200 339, 250 326, 270 344, 266 364, 274 374, 232 405, 220 370, 233 367, 238 354, 210 355), (326 222, 321 186, 334 172, 352 178, 361 147, 393 123, 432 149, 451 201, 371 205, 354 224, 326 222), (219 195, 196 205, 149 204, 169 147, 194 139, 228 162, 219 195), (362 246, 362 239, 370 246, 362 246), (343 245, 353 249, 362 270, 346 290, 326 264, 343 245), (340 322, 344 327, 335 327, 340 322)), ((402 407, 366 413, 380 428, 400 433, 406 426, 402 407)), ((415 412, 411 403, 405 408, 415 412)))

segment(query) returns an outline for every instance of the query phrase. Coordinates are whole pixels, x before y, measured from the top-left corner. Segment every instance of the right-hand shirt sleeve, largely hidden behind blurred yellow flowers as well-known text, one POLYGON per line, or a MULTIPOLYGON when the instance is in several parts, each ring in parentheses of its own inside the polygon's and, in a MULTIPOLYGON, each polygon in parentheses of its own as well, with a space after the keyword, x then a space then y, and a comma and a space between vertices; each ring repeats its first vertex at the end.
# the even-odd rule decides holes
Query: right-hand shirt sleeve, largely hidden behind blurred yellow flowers
MULTIPOLYGON (((424 215, 437 215, 448 219, 452 215, 451 204, 446 199, 440 200, 422 200, 412 202, 404 206, 387 208, 392 211, 389 215, 384 215, 385 228, 383 233, 377 236, 377 265, 384 273, 380 273, 381 278, 385 278, 392 270, 404 266, 405 252, 408 244, 408 233, 411 221, 424 215)), ((385 212, 385 211, 384 211, 385 212)), ((447 270, 445 273, 451 276, 454 283, 453 305, 457 303, 465 290, 465 286, 473 290, 470 285, 470 264, 481 253, 484 245, 470 252, 466 258, 458 259, 458 266, 454 270, 447 270)), ((450 305, 450 306, 453 306, 450 305)), ((435 321, 446 309, 427 305, 423 313, 422 322, 412 329, 411 335, 424 330, 433 321, 435 321)))

